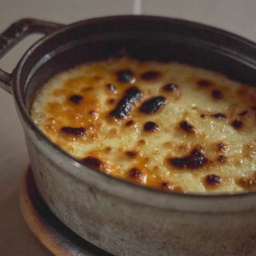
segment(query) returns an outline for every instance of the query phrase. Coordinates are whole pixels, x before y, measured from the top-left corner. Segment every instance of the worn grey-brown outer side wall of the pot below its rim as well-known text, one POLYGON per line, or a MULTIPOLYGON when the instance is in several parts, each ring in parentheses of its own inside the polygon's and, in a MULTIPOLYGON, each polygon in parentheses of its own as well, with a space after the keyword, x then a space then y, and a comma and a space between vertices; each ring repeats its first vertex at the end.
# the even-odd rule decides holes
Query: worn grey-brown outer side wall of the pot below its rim
POLYGON ((116 255, 256 251, 256 211, 210 214, 134 203, 78 181, 40 153, 28 135, 26 141, 36 185, 49 208, 79 236, 106 251, 116 255))

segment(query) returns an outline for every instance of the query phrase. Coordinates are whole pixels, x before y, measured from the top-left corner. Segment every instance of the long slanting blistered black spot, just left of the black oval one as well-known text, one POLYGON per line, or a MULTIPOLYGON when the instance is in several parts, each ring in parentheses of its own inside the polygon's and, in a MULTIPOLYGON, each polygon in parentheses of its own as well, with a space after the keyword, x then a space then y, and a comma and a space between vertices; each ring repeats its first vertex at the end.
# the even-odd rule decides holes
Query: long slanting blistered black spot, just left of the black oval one
POLYGON ((116 118, 124 118, 129 115, 132 105, 141 98, 142 93, 137 87, 130 87, 118 102, 116 108, 110 114, 116 118))

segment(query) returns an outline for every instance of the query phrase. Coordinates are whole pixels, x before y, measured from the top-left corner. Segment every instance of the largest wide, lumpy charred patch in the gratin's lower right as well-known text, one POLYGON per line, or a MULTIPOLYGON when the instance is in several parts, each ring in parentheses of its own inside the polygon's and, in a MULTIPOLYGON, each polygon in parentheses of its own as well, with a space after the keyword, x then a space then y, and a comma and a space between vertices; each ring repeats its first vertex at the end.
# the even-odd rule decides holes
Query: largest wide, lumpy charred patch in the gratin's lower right
POLYGON ((203 167, 207 163, 207 161, 208 159, 204 156, 204 153, 197 148, 191 151, 188 156, 174 157, 168 159, 169 164, 178 169, 198 169, 203 167))

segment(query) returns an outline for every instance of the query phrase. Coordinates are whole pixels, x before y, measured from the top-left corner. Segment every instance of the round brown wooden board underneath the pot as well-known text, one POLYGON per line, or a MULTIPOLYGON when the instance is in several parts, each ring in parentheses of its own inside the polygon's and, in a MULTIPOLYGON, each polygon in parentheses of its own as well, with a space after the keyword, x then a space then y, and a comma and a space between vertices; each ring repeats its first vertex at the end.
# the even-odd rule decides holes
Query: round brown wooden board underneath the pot
POLYGON ((22 181, 20 207, 31 231, 55 255, 112 255, 82 239, 58 220, 42 201, 31 168, 22 181))

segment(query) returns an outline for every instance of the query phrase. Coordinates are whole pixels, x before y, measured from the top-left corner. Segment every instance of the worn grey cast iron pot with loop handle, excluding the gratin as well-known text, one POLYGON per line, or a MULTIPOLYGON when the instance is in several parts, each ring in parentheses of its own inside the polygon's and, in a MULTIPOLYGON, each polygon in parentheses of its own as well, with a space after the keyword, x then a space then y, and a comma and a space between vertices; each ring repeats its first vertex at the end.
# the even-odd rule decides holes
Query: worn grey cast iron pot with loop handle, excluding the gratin
POLYGON ((24 36, 44 33, 12 74, 13 94, 39 193, 79 236, 117 255, 252 255, 256 253, 256 192, 176 194, 141 187, 81 165, 42 134, 29 115, 37 89, 81 62, 118 56, 180 61, 256 81, 256 45, 220 29, 154 16, 115 16, 60 25, 35 19, 1 35, 1 56, 24 36))

